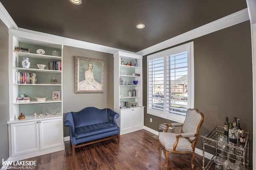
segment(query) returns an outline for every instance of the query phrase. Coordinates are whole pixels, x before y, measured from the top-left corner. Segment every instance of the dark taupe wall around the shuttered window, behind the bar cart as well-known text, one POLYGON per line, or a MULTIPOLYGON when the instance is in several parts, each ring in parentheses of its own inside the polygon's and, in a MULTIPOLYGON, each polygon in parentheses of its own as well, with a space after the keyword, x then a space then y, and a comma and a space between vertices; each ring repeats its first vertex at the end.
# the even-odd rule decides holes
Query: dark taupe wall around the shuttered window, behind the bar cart
MULTIPOLYGON (((194 107, 204 114, 200 135, 206 135, 217 124, 224 126, 226 117, 229 122, 237 117, 240 119, 242 129, 250 133, 250 143, 252 143, 250 21, 204 35, 192 41, 194 41, 194 107)), ((144 56, 144 106, 147 104, 146 60, 147 57, 144 56)), ((172 123, 170 120, 147 114, 145 107, 145 126, 158 131, 159 124, 168 122, 172 123), (150 123, 150 118, 152 118, 152 123, 150 123)), ((199 138, 196 147, 202 149, 202 137, 199 138)), ((252 165, 252 149, 250 150, 250 165, 252 165)))

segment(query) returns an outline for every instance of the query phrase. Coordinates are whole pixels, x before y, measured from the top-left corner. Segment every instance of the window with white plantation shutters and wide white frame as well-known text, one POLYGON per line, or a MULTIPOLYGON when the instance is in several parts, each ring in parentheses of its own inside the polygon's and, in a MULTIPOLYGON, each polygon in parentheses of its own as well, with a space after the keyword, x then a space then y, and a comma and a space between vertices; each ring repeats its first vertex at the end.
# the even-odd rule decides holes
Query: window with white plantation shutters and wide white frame
POLYGON ((187 109, 194 107, 193 42, 147 59, 148 113, 183 122, 187 109))

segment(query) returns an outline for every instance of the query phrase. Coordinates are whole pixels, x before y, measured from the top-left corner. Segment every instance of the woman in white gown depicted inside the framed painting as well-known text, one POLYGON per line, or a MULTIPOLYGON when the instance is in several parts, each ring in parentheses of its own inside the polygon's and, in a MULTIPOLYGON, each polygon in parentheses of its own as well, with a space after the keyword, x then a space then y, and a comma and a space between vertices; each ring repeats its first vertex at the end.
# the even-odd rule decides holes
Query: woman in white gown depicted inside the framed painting
POLYGON ((88 63, 88 70, 84 72, 85 80, 79 82, 79 90, 101 90, 101 84, 94 80, 93 64, 88 63))

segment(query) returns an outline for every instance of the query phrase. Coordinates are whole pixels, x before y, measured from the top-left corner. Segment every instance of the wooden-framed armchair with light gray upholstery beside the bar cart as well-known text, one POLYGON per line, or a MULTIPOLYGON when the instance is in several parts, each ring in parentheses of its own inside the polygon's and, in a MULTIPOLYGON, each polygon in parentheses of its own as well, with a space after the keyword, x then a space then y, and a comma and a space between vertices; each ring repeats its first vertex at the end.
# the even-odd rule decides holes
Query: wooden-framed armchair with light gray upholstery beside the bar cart
POLYGON ((166 124, 164 132, 159 132, 159 147, 165 149, 166 169, 168 168, 169 153, 192 154, 191 166, 194 168, 195 147, 199 137, 199 130, 204 121, 204 115, 198 109, 188 109, 184 123, 166 124), (182 126, 180 134, 167 133, 169 126, 182 126))

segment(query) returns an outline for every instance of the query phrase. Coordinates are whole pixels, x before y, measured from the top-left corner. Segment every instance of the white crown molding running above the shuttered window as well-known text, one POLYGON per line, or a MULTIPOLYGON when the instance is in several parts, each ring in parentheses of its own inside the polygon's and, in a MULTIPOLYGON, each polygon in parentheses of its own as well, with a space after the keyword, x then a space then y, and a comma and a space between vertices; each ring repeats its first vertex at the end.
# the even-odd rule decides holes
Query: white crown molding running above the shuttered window
POLYGON ((138 51, 136 54, 142 55, 142 56, 148 55, 150 53, 154 53, 156 51, 159 51, 168 47, 172 47, 173 45, 177 45, 179 43, 183 43, 183 42, 195 39, 197 37, 201 37, 203 35, 206 35, 206 34, 218 31, 220 29, 224 29, 226 27, 230 27, 232 25, 236 25, 238 23, 242 23, 248 20, 249 20, 248 9, 245 8, 243 10, 235 12, 234 14, 230 14, 216 21, 212 21, 210 23, 202 25, 201 27, 192 29, 191 31, 180 34, 176 37, 173 37, 171 39, 168 39, 166 41, 163 41, 161 43, 158 43, 156 45, 143 49, 141 51, 138 51))

